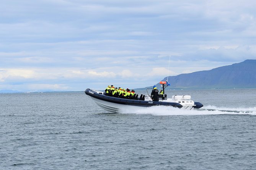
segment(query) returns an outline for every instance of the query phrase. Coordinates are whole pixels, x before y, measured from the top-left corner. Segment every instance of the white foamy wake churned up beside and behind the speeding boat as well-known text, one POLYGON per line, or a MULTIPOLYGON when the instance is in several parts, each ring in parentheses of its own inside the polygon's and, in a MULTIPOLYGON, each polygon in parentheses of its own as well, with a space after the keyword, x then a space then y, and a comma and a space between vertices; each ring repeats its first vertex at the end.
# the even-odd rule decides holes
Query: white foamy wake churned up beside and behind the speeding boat
POLYGON ((248 108, 228 108, 216 106, 204 106, 201 109, 183 110, 170 106, 152 106, 143 107, 141 109, 121 110, 122 114, 152 114, 152 115, 218 115, 218 114, 240 114, 240 115, 256 115, 256 107, 248 108))

